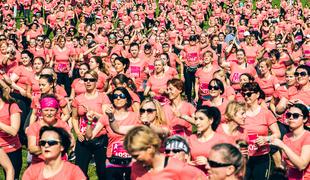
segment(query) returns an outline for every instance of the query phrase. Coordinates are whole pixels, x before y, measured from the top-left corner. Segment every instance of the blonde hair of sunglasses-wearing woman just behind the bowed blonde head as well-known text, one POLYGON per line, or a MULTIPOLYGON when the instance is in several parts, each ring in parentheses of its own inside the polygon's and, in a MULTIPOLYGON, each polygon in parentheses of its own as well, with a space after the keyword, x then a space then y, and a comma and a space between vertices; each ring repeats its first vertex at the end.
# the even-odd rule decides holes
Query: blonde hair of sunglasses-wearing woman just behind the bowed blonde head
POLYGON ((147 103, 153 103, 156 109, 156 117, 153 123, 155 125, 167 125, 166 116, 160 103, 155 99, 146 98, 144 101, 142 101, 140 107, 142 108, 147 103))

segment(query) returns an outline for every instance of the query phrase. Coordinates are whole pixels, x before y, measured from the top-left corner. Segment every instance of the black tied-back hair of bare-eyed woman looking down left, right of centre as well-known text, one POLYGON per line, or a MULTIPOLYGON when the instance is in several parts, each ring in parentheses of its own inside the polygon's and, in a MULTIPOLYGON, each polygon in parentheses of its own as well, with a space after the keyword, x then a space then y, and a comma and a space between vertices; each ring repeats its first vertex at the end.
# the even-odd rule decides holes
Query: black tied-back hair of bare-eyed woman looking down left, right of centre
POLYGON ((209 119, 212 119, 213 122, 211 124, 211 128, 213 131, 216 131, 217 127, 221 122, 221 112, 217 107, 201 106, 199 109, 197 109, 196 112, 201 112, 205 114, 209 119))

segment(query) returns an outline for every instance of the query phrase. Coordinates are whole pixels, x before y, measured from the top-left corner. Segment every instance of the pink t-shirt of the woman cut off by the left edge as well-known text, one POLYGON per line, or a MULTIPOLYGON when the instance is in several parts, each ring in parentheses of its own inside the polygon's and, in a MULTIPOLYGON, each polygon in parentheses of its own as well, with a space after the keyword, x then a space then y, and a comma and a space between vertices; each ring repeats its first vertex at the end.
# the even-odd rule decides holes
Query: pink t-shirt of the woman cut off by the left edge
MULTIPOLYGON (((11 104, 10 111, 9 111, 9 107, 10 105, 5 103, 2 109, 0 109, 0 121, 1 123, 8 125, 8 126, 11 125, 10 115, 22 112, 16 103, 11 104)), ((11 136, 10 134, 1 130, 0 131, 0 147, 2 147, 6 153, 18 150, 19 148, 21 148, 18 135, 11 136)))

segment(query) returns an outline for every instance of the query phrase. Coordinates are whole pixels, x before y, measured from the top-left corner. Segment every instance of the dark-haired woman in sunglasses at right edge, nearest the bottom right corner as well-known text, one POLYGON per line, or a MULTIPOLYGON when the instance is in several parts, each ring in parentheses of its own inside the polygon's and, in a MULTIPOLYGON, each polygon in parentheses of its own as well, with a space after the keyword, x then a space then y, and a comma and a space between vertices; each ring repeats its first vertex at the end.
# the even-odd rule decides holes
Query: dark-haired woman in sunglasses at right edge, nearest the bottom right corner
POLYGON ((284 135, 283 141, 275 139, 271 143, 283 152, 289 180, 309 179, 310 133, 304 128, 309 110, 303 104, 294 104, 288 109, 286 118, 291 132, 284 135))

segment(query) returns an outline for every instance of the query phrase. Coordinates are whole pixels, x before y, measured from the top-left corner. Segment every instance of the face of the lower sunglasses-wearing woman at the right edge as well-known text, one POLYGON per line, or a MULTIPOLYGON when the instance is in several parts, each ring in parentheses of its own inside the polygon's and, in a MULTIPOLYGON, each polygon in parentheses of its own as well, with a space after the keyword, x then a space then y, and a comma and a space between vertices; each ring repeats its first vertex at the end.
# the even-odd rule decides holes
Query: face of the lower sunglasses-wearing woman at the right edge
POLYGON ((289 127, 294 130, 304 125, 304 121, 302 112, 299 108, 291 107, 286 113, 286 120, 289 127))

